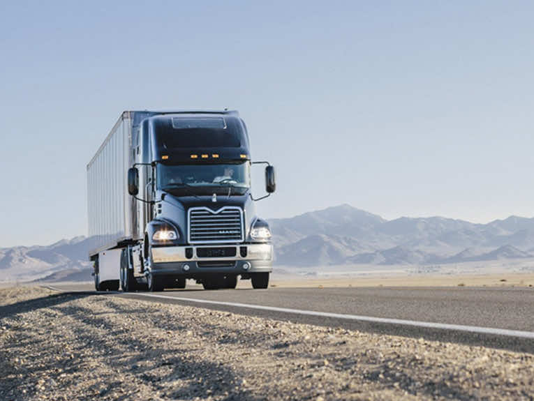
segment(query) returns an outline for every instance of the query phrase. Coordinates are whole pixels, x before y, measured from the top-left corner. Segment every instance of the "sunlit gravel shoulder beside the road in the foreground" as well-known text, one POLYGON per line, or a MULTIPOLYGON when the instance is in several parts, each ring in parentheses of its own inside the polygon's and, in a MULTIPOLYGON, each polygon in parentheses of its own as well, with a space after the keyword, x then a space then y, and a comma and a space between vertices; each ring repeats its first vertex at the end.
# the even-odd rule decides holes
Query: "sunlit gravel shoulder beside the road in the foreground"
POLYGON ((534 356, 0 289, 0 400, 534 400, 534 356))

